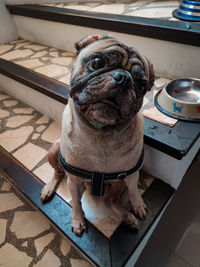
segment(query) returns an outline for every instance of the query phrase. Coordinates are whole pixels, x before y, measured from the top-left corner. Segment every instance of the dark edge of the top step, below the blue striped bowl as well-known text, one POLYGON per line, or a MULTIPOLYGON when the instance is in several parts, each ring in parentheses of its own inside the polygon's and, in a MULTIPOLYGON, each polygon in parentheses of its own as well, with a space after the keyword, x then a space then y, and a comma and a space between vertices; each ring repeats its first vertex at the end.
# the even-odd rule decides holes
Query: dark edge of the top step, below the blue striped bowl
POLYGON ((50 20, 101 30, 200 46, 200 29, 194 22, 115 15, 42 5, 6 5, 13 15, 50 20), (92 24, 91 24, 92 23, 92 24))

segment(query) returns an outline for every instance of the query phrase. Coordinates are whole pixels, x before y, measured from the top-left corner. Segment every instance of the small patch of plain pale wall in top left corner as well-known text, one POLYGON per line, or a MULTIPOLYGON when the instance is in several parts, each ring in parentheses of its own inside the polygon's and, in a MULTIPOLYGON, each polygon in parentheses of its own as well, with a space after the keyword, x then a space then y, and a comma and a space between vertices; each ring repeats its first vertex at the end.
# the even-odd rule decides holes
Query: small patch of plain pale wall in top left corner
POLYGON ((4 0, 0 0, 0 44, 8 43, 19 38, 12 16, 5 7, 4 0))

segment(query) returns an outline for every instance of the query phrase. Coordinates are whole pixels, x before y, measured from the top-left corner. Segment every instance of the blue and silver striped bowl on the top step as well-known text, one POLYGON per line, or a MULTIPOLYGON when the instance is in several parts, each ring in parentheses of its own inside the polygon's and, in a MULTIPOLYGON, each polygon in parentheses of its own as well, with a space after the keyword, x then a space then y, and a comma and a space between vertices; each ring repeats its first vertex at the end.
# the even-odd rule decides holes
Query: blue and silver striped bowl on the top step
POLYGON ((183 0, 172 15, 182 20, 200 21, 200 1, 183 0))

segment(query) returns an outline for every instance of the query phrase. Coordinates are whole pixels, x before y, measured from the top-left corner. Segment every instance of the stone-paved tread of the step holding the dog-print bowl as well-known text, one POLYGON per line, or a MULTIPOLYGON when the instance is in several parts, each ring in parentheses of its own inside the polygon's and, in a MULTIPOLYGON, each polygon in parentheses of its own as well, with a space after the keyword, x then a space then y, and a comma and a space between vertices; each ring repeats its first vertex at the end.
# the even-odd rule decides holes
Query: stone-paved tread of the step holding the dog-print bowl
MULTIPOLYGON (((62 83, 70 83, 70 73, 76 55, 61 49, 39 45, 26 40, 16 40, 0 46, 0 58, 12 61, 62 83)), ((169 78, 157 77, 155 86, 144 97, 145 117, 173 127, 177 120, 170 118, 154 106, 154 95, 169 78)))

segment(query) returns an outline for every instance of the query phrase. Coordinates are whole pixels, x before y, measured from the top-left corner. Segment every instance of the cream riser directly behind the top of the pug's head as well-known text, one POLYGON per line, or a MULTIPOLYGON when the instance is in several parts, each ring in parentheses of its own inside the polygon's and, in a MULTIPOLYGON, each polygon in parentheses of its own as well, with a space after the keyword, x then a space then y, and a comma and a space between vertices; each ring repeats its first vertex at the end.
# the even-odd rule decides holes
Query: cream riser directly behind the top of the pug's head
MULTIPOLYGON (((21 38, 72 52, 77 40, 88 34, 106 32, 18 15, 13 15, 13 18, 21 38)), ((111 31, 109 33, 146 55, 154 64, 155 72, 161 76, 200 78, 199 47, 111 31)))

